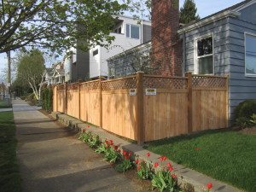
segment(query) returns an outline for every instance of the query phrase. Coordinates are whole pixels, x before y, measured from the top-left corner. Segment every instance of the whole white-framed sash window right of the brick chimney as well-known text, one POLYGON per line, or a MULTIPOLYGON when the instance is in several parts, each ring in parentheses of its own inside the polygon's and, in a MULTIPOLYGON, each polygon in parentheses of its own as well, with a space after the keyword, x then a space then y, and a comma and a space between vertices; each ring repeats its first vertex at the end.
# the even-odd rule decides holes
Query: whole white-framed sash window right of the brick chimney
POLYGON ((212 35, 195 38, 195 74, 214 74, 212 35))

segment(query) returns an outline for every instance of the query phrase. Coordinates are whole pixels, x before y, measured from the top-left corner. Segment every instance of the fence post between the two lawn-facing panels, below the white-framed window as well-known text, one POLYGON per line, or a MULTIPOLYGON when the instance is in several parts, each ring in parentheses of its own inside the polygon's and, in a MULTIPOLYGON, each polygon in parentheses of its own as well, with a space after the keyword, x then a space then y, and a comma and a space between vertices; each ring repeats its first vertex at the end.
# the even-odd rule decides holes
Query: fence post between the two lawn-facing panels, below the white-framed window
POLYGON ((188 77, 188 133, 193 131, 193 116, 192 116, 192 73, 186 72, 188 77))

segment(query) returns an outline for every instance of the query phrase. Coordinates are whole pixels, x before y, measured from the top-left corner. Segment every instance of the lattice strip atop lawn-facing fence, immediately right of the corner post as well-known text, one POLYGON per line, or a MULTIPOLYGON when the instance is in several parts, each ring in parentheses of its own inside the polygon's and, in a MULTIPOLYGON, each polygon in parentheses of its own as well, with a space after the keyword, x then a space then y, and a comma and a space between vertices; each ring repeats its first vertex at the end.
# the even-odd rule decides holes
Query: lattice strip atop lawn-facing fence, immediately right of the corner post
POLYGON ((143 86, 145 89, 186 89, 187 79, 145 76, 143 77, 143 86))

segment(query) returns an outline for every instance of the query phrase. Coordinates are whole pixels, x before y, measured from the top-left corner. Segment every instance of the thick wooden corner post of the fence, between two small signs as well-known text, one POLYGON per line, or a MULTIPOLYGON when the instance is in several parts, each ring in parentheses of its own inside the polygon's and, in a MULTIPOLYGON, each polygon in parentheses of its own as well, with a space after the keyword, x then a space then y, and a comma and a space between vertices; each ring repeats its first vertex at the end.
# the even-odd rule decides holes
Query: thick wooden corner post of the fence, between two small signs
POLYGON ((145 142, 144 119, 143 119, 143 72, 137 72, 137 143, 142 145, 145 142))

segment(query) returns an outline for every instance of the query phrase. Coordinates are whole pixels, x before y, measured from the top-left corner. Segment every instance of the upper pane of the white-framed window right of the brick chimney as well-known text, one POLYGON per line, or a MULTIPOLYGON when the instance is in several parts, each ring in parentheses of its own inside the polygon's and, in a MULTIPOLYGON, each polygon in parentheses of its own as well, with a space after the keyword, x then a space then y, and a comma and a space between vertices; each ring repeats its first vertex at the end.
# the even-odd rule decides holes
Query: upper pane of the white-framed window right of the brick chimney
POLYGON ((197 41, 197 55, 208 55, 212 54, 212 37, 202 38, 197 41))

